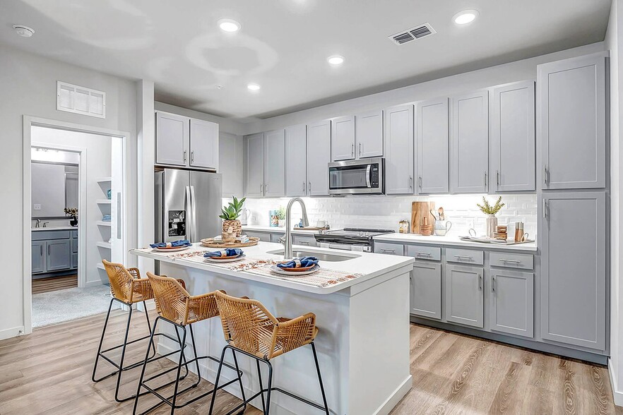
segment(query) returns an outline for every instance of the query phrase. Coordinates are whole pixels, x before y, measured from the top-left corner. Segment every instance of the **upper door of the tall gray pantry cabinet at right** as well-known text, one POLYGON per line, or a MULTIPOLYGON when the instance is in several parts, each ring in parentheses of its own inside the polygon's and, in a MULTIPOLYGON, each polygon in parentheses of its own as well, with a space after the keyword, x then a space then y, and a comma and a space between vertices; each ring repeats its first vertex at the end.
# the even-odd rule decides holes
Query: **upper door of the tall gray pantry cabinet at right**
POLYGON ((543 188, 604 188, 605 56, 538 66, 543 188))

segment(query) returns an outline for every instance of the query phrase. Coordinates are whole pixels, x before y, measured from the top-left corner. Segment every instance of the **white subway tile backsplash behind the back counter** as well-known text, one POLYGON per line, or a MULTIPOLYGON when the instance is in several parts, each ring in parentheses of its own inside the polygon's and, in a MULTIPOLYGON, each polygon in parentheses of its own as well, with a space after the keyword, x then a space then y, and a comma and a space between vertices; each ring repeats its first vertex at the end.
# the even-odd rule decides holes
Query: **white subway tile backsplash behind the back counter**
MULTIPOLYGON (((487 196, 494 203, 497 196, 487 196)), ((246 207, 251 210, 249 224, 268 225, 268 211, 285 207, 290 198, 247 199, 246 207)), ((478 234, 485 234, 485 215, 477 208, 482 203, 482 195, 443 195, 425 198, 422 196, 346 196, 345 198, 303 198, 307 207, 309 222, 326 220, 332 229, 343 227, 367 227, 393 229, 398 231, 398 222, 411 219, 411 203, 414 201, 434 201, 435 206, 444 208, 446 219, 452 222, 451 235, 467 234, 475 227, 478 234)), ((227 204, 229 199, 223 199, 227 204)), ((514 233, 514 223, 524 222, 530 239, 536 236, 537 198, 535 194, 504 195, 504 208, 497 214, 499 224, 509 226, 509 234, 514 233), (511 233, 512 232, 512 233, 511 233)), ((301 217, 299 205, 292 208, 292 222, 298 223, 301 217)))

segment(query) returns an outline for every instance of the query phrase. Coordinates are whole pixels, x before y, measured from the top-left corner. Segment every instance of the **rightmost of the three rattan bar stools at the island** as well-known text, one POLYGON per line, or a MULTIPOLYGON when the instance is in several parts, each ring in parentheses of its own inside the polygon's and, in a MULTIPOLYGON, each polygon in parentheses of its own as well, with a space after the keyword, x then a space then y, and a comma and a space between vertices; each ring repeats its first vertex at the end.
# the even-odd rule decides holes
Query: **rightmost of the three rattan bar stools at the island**
MULTIPOLYGON (((220 365, 218 366, 214 386, 218 387, 220 370, 223 366, 223 359, 225 358, 227 349, 232 351, 234 361, 237 361, 237 353, 242 353, 256 360, 260 386, 260 391, 248 399, 244 397, 244 389, 242 389, 241 386, 243 402, 227 412, 227 415, 233 414, 242 407, 246 408, 246 405, 251 402, 251 400, 260 395, 264 415, 268 415, 271 407, 271 392, 273 391, 281 392, 289 397, 309 404, 312 407, 321 409, 321 411, 324 411, 324 413, 328 415, 329 410, 326 403, 322 377, 320 375, 316 346, 314 345, 314 339, 318 334, 316 315, 314 313, 307 313, 292 319, 283 317, 276 318, 266 310, 259 301, 251 300, 248 297, 237 298, 228 296, 220 291, 215 291, 214 294, 216 296, 216 302, 218 303, 220 320, 223 323, 223 334, 225 335, 225 340, 227 340, 227 346, 223 348, 223 353, 220 356, 220 365), (314 362, 316 363, 316 373, 318 373, 323 405, 316 404, 309 399, 299 397, 292 392, 273 386, 273 365, 271 364, 271 359, 306 344, 311 345, 312 352, 314 353, 314 362), (260 362, 268 366, 268 385, 266 388, 262 385, 260 362), (266 400, 264 399, 264 393, 266 393, 266 400)), ((212 414, 214 402, 215 396, 212 397, 209 414, 212 414)), ((240 414, 243 412, 244 409, 242 409, 240 414)))

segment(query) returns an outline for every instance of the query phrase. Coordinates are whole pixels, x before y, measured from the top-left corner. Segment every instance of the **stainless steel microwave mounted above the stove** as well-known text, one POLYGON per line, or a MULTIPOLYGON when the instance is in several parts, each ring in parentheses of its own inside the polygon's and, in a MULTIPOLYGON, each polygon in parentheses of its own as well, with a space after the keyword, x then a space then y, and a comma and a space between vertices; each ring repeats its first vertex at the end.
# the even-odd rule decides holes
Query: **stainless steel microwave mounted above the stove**
POLYGON ((328 164, 329 194, 382 195, 385 193, 385 159, 374 157, 328 164))

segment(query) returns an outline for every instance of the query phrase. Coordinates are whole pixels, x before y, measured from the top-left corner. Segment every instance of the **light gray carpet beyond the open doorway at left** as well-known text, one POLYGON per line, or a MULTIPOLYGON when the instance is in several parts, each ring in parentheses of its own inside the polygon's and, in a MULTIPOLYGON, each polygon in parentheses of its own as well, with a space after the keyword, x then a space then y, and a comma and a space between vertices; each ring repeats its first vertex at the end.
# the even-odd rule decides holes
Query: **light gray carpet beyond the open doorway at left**
MULTIPOLYGON (((105 313, 110 303, 107 285, 32 294, 32 327, 42 327, 105 313)), ((117 303, 113 308, 119 308, 117 303)))

